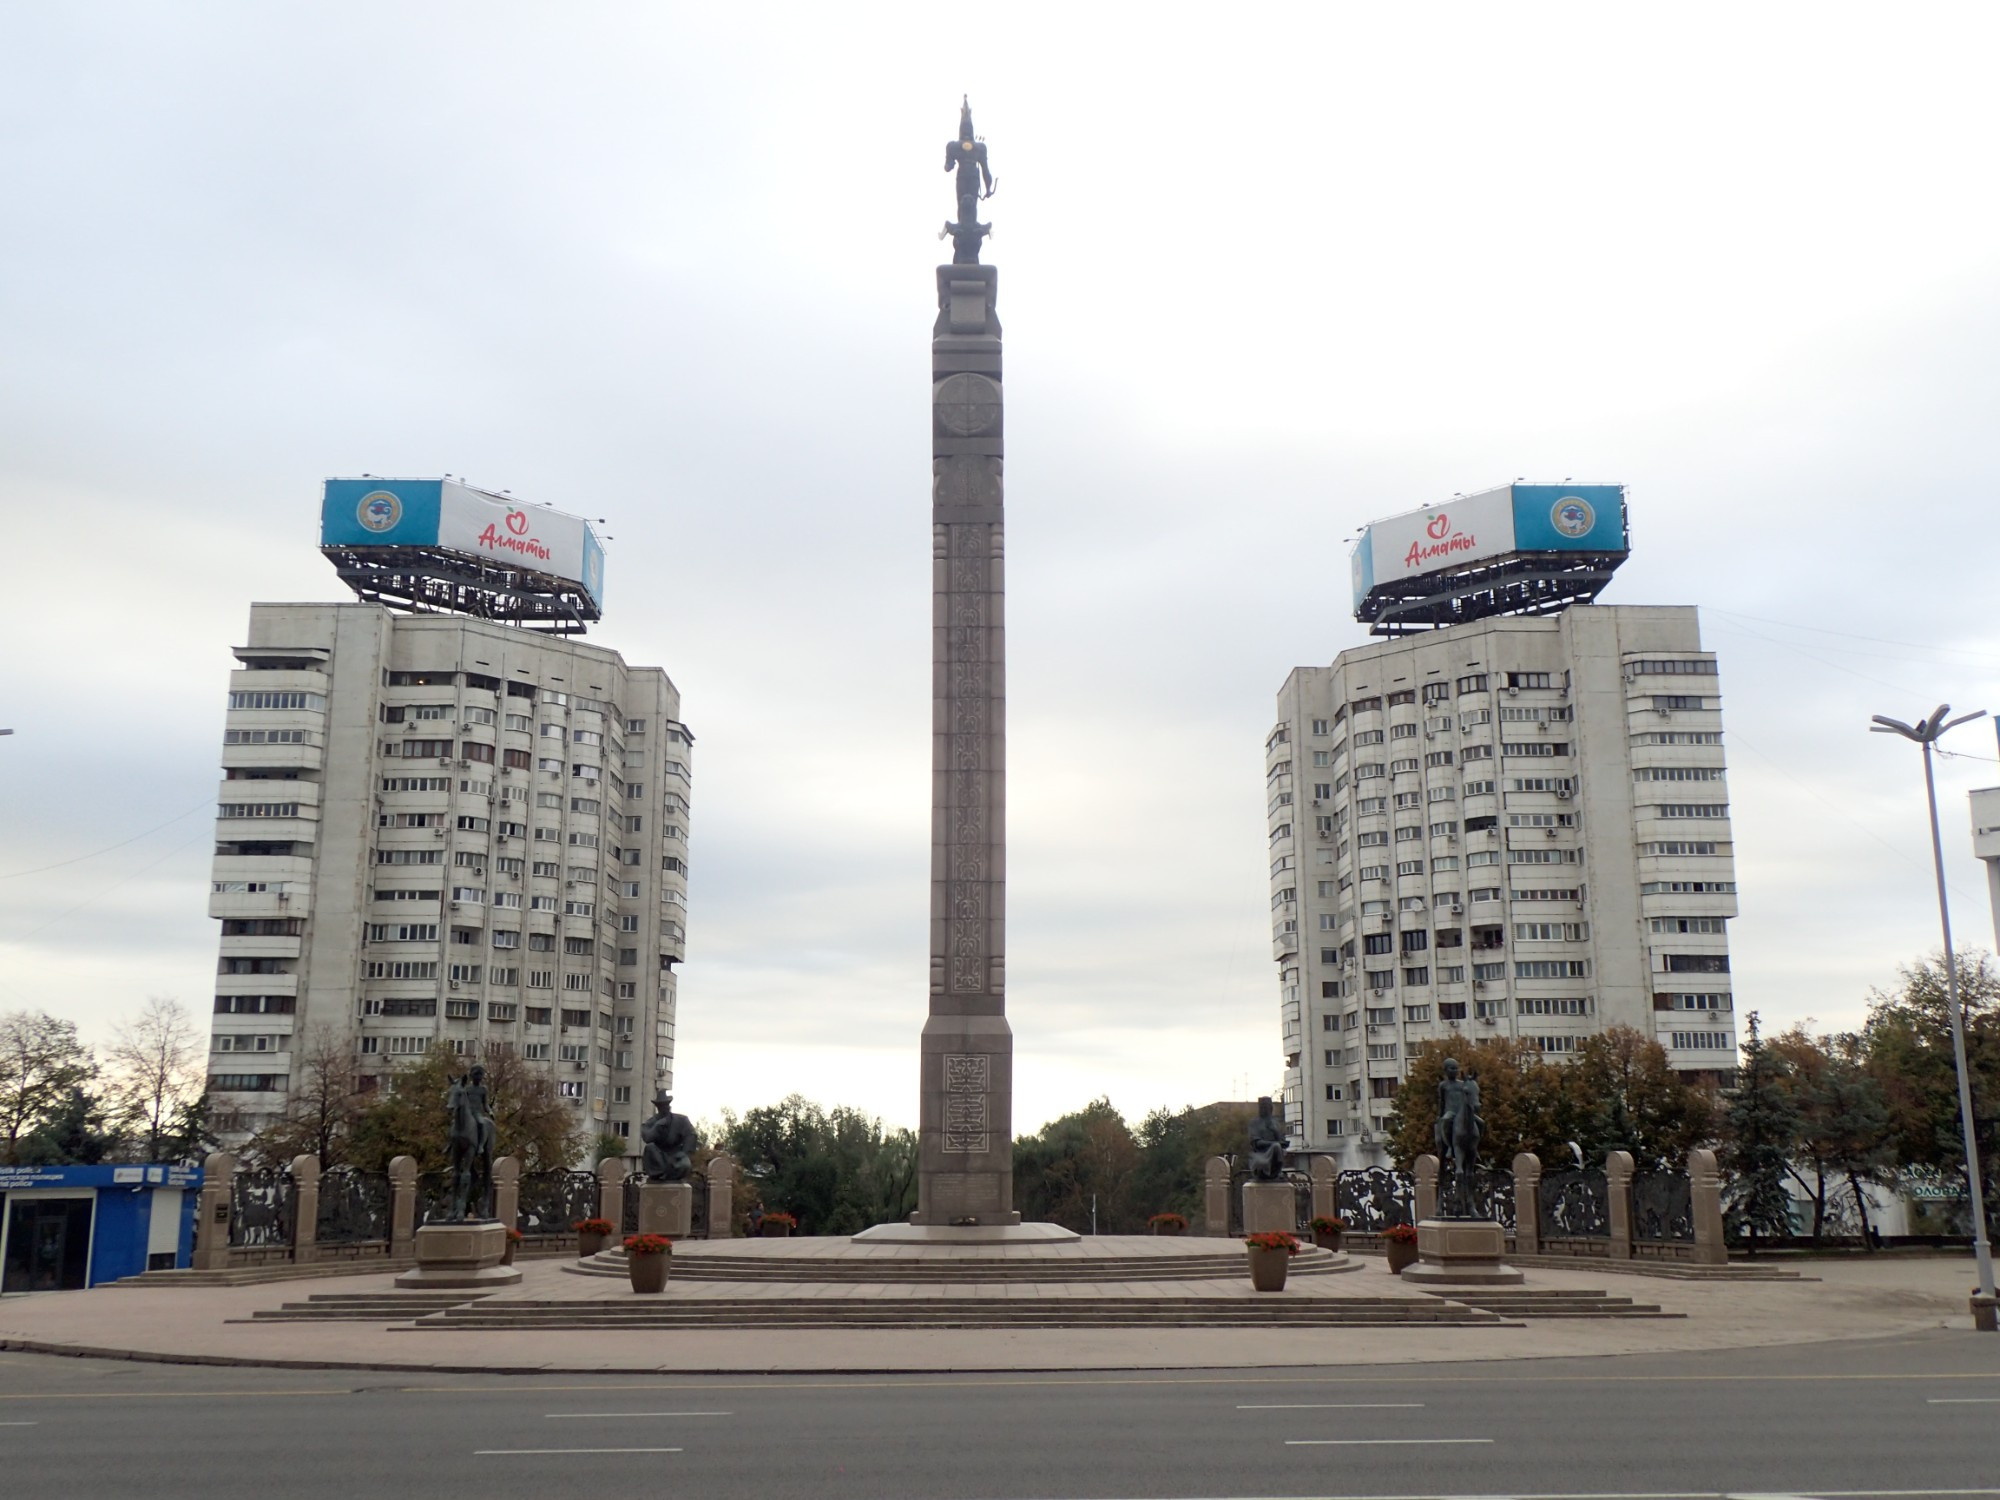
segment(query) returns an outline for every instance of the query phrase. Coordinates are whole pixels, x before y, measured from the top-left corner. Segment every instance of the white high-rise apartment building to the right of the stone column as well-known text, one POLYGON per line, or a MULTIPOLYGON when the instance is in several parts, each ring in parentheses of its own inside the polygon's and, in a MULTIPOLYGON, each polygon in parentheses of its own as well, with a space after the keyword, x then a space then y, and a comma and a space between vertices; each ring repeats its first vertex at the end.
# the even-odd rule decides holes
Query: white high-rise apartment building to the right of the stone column
POLYGON ((1284 1110, 1382 1160, 1414 1044, 1608 1026, 1736 1066, 1716 658, 1692 608, 1574 606, 1302 666, 1264 746, 1284 1110))

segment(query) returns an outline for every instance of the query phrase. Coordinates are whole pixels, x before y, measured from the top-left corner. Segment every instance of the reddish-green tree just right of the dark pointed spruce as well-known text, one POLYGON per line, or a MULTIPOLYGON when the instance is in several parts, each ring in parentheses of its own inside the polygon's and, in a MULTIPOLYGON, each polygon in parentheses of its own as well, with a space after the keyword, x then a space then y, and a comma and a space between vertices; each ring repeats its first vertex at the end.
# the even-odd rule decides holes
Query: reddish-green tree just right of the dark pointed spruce
POLYGON ((1852 1196, 1862 1244, 1868 1232, 1870 1182, 1890 1182, 1888 1102, 1862 1060, 1858 1036, 1808 1036, 1804 1026, 1766 1044, 1782 1072, 1782 1088, 1798 1110, 1798 1156, 1792 1180, 1812 1198, 1812 1242, 1826 1234, 1842 1192, 1852 1196))

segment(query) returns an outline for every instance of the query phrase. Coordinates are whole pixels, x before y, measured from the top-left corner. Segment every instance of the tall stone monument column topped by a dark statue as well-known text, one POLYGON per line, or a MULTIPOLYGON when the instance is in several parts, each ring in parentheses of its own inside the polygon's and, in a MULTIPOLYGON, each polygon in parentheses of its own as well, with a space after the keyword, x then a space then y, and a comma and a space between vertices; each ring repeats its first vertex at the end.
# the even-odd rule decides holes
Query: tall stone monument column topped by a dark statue
POLYGON ((930 1018, 924 1022, 916 1212, 872 1240, 1076 1238, 1014 1210, 1014 1032, 1006 1024, 1006 632, 1002 618, 1000 274, 980 264, 992 194, 972 108, 944 148, 930 336, 930 1018), (940 236, 940 238, 944 238, 940 236), (912 1228, 914 1226, 914 1228, 912 1228))

